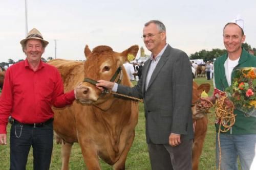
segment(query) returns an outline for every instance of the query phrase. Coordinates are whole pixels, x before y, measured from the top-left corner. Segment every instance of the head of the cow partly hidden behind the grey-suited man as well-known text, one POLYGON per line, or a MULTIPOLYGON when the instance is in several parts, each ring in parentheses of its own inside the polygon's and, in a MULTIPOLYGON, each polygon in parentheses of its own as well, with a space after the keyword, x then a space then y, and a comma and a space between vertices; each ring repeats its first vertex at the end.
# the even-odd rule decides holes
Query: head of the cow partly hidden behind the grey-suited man
POLYGON ((201 93, 205 91, 206 93, 210 90, 210 84, 204 83, 200 86, 197 85, 196 82, 193 82, 193 98, 192 98, 192 114, 193 118, 202 118, 206 112, 205 110, 200 108, 200 98, 201 93))

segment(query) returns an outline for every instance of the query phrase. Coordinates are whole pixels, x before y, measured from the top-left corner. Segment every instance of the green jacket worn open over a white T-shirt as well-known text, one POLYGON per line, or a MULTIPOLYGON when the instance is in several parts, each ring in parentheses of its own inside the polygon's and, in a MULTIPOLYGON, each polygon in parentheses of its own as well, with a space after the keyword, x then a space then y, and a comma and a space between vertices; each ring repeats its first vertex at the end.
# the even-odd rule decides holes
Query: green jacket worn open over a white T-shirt
MULTIPOLYGON (((217 89, 224 91, 228 87, 224 63, 227 59, 227 54, 218 57, 214 63, 214 79, 217 89)), ((243 48, 239 63, 236 68, 239 67, 256 67, 256 57, 250 55, 243 48)), ((231 79, 233 79, 233 72, 231 79)), ((232 128, 226 132, 227 134, 243 135, 243 134, 256 134, 256 117, 245 117, 244 113, 239 110, 234 110, 236 114, 236 122, 232 128)), ((219 124, 216 125, 216 131, 219 130, 219 124)))

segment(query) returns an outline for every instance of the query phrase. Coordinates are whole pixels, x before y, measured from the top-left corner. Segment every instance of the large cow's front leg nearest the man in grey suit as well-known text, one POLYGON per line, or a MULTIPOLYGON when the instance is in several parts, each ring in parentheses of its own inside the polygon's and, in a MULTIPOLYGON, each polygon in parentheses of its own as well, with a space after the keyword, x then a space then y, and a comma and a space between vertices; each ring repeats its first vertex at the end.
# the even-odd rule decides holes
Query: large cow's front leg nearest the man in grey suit
POLYGON ((127 141, 127 144, 125 145, 125 149, 120 157, 120 159, 113 165, 114 170, 124 170, 125 169, 125 161, 128 155, 128 152, 130 151, 133 140, 135 136, 135 131, 133 131, 132 136, 127 141))

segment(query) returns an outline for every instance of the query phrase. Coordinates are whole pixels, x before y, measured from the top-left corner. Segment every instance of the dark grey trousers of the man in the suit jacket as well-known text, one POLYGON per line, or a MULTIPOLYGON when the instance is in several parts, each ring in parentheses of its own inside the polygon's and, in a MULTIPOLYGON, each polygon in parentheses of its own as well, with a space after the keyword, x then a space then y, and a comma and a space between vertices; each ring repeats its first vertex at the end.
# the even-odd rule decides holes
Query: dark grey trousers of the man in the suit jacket
POLYGON ((181 142, 177 147, 154 143, 147 146, 152 170, 192 169, 192 139, 181 142))

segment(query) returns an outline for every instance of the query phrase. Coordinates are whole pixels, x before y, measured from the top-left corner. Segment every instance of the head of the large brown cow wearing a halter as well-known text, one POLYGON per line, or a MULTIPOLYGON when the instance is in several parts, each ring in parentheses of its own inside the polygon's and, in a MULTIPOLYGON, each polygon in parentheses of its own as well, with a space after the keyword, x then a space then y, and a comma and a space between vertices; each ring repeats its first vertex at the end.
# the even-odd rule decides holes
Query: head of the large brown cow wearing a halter
POLYGON ((113 81, 117 82, 120 79, 120 84, 131 86, 130 79, 127 77, 122 64, 127 61, 127 55, 132 54, 136 56, 138 50, 138 45, 133 45, 122 53, 117 53, 111 47, 101 45, 91 51, 88 45, 86 45, 84 48, 84 54, 87 58, 86 62, 84 62, 84 79, 86 81, 82 82, 82 90, 78 91, 80 96, 78 101, 82 104, 93 104, 100 108, 109 108, 113 102, 113 95, 102 93, 95 87, 95 82, 90 81, 111 81, 111 79, 114 79, 113 81), (117 71, 119 67, 121 67, 122 71, 117 71), (116 72, 117 76, 114 77, 116 72))

